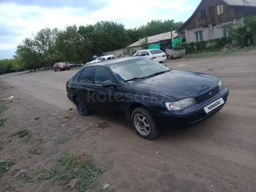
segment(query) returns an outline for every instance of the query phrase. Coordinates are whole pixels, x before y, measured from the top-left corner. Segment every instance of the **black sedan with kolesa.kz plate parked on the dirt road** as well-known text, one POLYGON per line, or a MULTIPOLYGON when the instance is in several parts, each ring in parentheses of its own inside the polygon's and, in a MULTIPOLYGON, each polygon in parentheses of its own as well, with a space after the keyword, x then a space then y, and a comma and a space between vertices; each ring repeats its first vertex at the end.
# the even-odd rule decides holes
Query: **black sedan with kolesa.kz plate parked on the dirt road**
POLYGON ((215 76, 172 70, 147 58, 122 58, 80 69, 66 83, 80 115, 126 115, 137 134, 158 136, 162 123, 194 125, 214 115, 229 91, 215 76))

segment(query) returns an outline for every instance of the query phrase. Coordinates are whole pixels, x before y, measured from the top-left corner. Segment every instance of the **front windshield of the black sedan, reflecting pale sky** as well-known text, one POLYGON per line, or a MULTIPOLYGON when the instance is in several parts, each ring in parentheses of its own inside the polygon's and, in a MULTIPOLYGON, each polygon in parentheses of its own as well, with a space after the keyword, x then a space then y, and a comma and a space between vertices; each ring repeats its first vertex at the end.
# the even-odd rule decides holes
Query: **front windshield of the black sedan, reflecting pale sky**
POLYGON ((154 62, 151 59, 138 58, 130 61, 116 63, 110 66, 120 81, 143 79, 144 77, 169 71, 168 67, 154 62), (137 79, 136 79, 137 78, 137 79))

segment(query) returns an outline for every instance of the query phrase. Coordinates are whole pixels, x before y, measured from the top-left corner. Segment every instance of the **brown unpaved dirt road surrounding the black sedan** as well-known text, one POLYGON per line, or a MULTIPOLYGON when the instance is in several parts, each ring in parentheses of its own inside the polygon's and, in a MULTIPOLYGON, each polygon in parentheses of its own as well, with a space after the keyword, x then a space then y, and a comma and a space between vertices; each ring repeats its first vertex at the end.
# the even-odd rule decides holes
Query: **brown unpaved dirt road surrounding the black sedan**
MULTIPOLYGON (((255 53, 170 61, 173 69, 221 77, 230 96, 222 111, 206 122, 166 131, 153 141, 138 137, 125 119, 81 117, 76 110, 68 111, 75 107, 66 98, 65 83, 74 70, 2 76, 1 97, 15 97, 4 130, 27 127, 34 138, 27 145, 14 140, 4 144, 0 159, 15 157, 14 170, 34 171, 51 165, 64 152, 87 152, 109 168, 98 177, 93 191, 106 183, 108 191, 118 192, 256 191, 255 53), (54 147, 53 141, 61 136, 70 140, 54 147), (35 146, 44 152, 26 153, 35 146)), ((50 182, 23 185, 11 175, 5 178, 0 186, 7 182, 19 191, 66 190, 50 182)))

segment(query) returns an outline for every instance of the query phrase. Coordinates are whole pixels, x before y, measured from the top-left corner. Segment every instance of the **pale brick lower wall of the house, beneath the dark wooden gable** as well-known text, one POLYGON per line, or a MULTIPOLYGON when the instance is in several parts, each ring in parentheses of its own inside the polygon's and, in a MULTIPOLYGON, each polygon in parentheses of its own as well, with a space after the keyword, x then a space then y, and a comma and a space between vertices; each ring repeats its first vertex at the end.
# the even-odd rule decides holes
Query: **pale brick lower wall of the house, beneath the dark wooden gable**
MULTIPOLYGON (((195 42, 195 33, 200 31, 202 31, 202 39, 204 41, 221 38, 223 37, 223 27, 230 26, 232 23, 233 20, 216 24, 215 26, 212 26, 212 30, 210 30, 210 27, 198 27, 195 29, 185 30, 186 42, 195 42)), ((237 24, 243 24, 243 19, 237 20, 237 24)))

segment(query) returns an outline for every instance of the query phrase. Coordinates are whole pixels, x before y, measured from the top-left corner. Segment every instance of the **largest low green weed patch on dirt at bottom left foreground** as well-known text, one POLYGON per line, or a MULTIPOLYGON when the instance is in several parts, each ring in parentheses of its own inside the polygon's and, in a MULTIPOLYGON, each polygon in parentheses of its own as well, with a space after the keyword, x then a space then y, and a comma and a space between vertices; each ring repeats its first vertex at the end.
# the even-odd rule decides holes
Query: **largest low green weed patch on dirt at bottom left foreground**
POLYGON ((38 180, 51 179, 59 184, 69 184, 79 191, 88 191, 93 187, 94 181, 103 170, 85 154, 66 154, 49 169, 38 173, 38 180))

